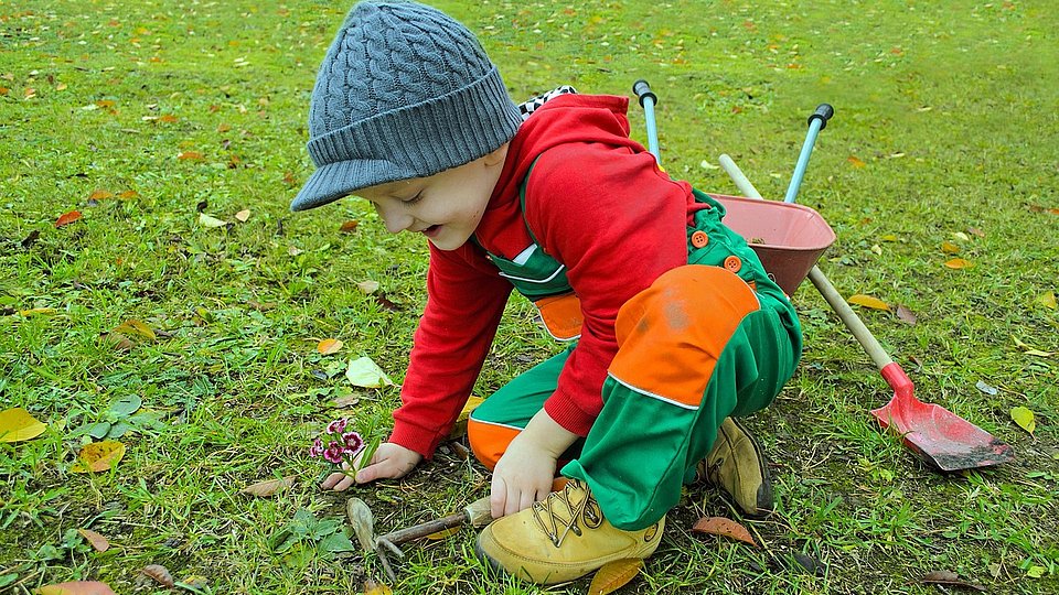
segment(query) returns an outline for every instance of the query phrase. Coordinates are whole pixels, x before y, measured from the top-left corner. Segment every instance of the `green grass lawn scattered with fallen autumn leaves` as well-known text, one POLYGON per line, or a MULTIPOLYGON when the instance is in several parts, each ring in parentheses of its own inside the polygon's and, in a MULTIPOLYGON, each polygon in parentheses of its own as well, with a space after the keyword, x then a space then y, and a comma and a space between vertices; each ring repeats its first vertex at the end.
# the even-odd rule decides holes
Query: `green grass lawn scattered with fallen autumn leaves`
MULTIPOLYGON (((766 549, 693 534, 699 516, 736 512, 692 487, 623 592, 934 593, 918 580, 938 570, 991 593, 1059 589, 1059 364, 1016 343, 1059 351, 1059 317, 1040 303, 1059 290, 1050 3, 438 6, 480 33, 513 97, 559 84, 628 95, 648 78, 664 165, 709 192, 736 193, 715 167, 727 152, 781 197, 805 117, 833 104, 799 197, 838 235, 822 269, 844 295, 911 309, 914 325, 859 312, 921 399, 1017 453, 941 475, 880 434, 867 412, 891 391, 805 284, 794 296, 803 363, 750 421, 780 506, 745 521, 766 549), (975 266, 946 269, 943 241, 975 266), (1036 412, 1035 436, 1010 420, 1018 405, 1036 412), (819 572, 793 564, 794 552, 819 572)), ((284 553, 270 544, 298 510, 343 517, 344 496, 315 487, 323 469, 308 442, 339 413, 385 434, 397 390, 354 389, 341 364, 366 355, 399 380, 425 302, 420 240, 388 236, 356 201, 287 210, 311 171, 313 76, 346 8, 0 1, 0 409, 49 423, 0 444, 0 591, 92 578, 130 593, 151 563, 205 576, 212 593, 359 592, 379 576, 374 560, 329 558, 312 539, 284 553), (203 156, 178 159, 186 152, 203 156), (89 203, 95 191, 136 194, 89 203), (200 204, 235 225, 201 226, 200 204), (244 208, 249 219, 236 223, 244 208), (83 219, 55 228, 72 209, 83 219), (339 231, 347 219, 361 221, 354 234, 339 231), (351 289, 368 279, 397 310, 351 289), (20 314, 44 307, 55 313, 20 314), (130 350, 103 338, 130 318, 159 336, 130 350), (345 343, 339 355, 315 353, 327 337, 345 343), (128 453, 113 472, 71 474, 86 440, 75 430, 133 394, 158 422, 121 437, 128 453), (360 401, 338 410, 344 396, 360 401), (290 490, 238 494, 284 476, 297 477, 290 490), (71 532, 81 528, 111 548, 94 552, 71 532)), ((631 119, 643 140, 639 109, 631 119)), ((512 302, 480 394, 555 351, 531 318, 512 302)), ((486 486, 480 466, 446 448, 406 480, 356 494, 392 530, 486 486)), ((473 539, 408 548, 396 592, 541 591, 486 573, 473 539)))

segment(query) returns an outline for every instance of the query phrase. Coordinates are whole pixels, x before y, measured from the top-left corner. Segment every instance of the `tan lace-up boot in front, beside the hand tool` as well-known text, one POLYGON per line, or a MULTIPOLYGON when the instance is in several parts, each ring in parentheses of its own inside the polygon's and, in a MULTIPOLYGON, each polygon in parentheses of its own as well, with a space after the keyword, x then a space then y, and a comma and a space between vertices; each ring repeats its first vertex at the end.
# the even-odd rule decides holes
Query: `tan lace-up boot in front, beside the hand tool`
POLYGON ((478 537, 477 551, 494 569, 550 585, 614 560, 650 556, 664 526, 663 517, 639 531, 617 529, 603 518, 588 485, 570 479, 544 501, 493 521, 478 537))

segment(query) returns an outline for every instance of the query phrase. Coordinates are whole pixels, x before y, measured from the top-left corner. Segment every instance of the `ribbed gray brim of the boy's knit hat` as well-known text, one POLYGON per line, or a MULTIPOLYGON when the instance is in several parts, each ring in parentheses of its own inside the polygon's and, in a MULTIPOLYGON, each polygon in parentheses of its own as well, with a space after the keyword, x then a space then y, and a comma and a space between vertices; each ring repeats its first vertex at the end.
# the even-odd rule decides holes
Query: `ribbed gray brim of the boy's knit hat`
POLYGON ((319 167, 298 196, 290 203, 291 210, 309 210, 331 204, 359 190, 398 180, 418 177, 420 174, 398 163, 384 160, 356 160, 328 163, 319 167))

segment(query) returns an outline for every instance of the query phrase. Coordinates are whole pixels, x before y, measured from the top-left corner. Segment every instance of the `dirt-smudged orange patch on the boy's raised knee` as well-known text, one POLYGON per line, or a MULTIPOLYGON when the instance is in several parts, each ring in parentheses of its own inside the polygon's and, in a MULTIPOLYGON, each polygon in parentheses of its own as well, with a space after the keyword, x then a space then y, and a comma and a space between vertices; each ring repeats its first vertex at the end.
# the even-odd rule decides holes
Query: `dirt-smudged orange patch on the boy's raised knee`
POLYGON ((747 283, 723 268, 667 271, 618 311, 610 376, 639 392, 698 407, 720 353, 759 309, 747 283))

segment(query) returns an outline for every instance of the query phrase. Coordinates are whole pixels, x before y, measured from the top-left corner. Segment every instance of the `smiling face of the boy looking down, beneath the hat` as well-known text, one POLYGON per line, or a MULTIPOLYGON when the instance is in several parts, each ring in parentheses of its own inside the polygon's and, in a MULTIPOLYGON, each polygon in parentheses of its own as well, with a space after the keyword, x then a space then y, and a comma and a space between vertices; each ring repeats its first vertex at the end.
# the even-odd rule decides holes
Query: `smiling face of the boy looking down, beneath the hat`
POLYGON ((429 177, 402 180, 354 192, 366 198, 391 234, 418 231, 439 250, 456 250, 471 237, 500 180, 507 145, 429 177))

